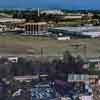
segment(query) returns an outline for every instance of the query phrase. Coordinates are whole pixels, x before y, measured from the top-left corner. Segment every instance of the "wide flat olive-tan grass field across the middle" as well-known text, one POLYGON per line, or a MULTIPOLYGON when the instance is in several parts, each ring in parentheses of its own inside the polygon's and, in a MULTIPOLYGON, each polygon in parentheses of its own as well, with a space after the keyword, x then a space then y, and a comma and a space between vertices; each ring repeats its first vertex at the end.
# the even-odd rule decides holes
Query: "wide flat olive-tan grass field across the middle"
POLYGON ((58 41, 47 37, 1 35, 0 54, 32 54, 40 55, 41 48, 44 55, 61 55, 65 50, 72 54, 88 57, 100 56, 100 39, 71 39, 70 41, 58 41), (81 44, 81 46, 75 46, 81 44), (84 49, 84 45, 87 46, 84 49), (85 51, 84 51, 85 50, 85 51))

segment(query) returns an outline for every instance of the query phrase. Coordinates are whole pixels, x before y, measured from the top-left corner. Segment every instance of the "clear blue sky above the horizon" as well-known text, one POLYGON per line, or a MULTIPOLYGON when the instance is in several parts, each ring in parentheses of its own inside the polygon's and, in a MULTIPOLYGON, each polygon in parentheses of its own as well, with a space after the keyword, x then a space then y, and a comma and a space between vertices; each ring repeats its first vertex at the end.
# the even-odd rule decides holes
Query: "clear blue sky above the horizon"
POLYGON ((100 0, 0 0, 0 8, 100 9, 100 0))

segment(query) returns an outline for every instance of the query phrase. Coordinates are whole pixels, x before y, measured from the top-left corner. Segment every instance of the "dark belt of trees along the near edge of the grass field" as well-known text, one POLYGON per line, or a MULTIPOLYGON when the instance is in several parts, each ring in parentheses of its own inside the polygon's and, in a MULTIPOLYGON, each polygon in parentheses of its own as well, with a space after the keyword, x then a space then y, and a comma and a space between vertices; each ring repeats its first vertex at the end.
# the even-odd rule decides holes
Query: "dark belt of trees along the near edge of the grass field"
POLYGON ((45 58, 19 58, 17 63, 11 63, 7 58, 0 59, 0 77, 34 75, 38 73, 53 74, 59 73, 84 73, 83 60, 80 57, 72 56, 68 51, 64 53, 63 59, 45 58), (8 64, 5 64, 8 62, 8 64))

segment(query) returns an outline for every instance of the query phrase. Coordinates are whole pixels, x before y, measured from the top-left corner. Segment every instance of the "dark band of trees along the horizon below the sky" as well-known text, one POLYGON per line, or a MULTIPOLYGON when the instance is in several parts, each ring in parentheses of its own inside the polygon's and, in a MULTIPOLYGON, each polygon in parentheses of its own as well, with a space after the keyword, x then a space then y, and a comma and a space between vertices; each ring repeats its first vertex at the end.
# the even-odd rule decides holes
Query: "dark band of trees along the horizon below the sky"
POLYGON ((76 10, 76 11, 70 11, 70 10, 62 10, 64 12, 64 16, 67 16, 69 13, 72 14, 85 14, 85 16, 82 17, 82 19, 64 19, 64 16, 62 15, 53 15, 53 14, 40 14, 38 16, 37 10, 1 10, 0 15, 6 16, 6 17, 13 17, 13 18, 19 18, 19 19, 26 19, 26 21, 46 21, 50 22, 52 21, 55 26, 61 26, 62 23, 65 23, 64 25, 83 25, 83 24, 93 24, 93 25, 100 25, 100 11, 91 11, 91 10, 76 10), (93 16, 90 18, 88 16, 88 13, 92 13, 93 16), (59 23, 59 24, 58 24, 59 23))

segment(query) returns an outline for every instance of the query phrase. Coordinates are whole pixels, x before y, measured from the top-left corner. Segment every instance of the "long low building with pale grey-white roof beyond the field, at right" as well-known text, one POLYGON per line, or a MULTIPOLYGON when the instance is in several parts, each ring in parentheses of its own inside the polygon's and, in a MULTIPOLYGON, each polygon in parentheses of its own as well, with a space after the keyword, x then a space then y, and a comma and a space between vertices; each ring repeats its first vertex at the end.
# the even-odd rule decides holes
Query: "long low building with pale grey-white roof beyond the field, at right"
POLYGON ((63 35, 67 36, 78 36, 78 37, 91 37, 91 38, 97 38, 100 37, 100 26, 77 26, 77 27, 55 27, 55 28, 49 28, 49 32, 56 33, 59 35, 59 33, 62 33, 63 35))

